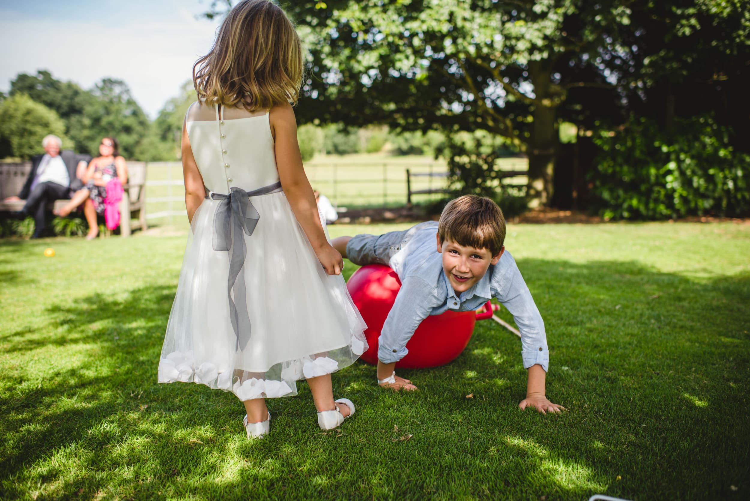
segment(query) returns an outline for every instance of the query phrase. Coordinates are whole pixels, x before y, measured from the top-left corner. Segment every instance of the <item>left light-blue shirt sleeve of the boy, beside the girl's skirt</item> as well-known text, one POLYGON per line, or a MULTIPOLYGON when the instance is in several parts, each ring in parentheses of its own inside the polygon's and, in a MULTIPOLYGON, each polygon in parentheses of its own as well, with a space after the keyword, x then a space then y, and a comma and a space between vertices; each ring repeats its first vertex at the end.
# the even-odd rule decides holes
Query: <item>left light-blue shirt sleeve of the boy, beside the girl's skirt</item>
POLYGON ((377 358, 384 364, 407 356, 407 342, 419 324, 431 313, 436 300, 434 286, 419 277, 407 277, 401 284, 393 308, 378 338, 377 358))

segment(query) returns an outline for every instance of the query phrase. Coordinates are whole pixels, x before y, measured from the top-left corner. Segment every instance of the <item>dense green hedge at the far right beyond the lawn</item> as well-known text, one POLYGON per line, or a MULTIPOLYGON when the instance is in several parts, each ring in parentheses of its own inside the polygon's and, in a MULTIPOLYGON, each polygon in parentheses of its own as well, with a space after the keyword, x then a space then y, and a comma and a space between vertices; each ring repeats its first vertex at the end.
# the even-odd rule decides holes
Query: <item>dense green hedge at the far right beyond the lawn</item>
POLYGON ((709 117, 677 120, 667 133, 646 118, 600 132, 590 176, 607 219, 669 219, 750 212, 750 155, 709 117))

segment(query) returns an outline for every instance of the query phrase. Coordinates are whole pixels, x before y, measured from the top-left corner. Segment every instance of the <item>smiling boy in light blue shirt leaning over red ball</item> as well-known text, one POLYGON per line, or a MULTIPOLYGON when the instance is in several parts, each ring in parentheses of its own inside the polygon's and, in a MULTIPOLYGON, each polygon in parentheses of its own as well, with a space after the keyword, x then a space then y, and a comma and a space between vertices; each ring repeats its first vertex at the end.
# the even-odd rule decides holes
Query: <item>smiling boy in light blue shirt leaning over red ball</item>
POLYGON ((378 339, 380 386, 416 390, 409 380, 396 376, 395 365, 407 355, 407 341, 428 315, 474 311, 496 298, 518 326, 523 367, 529 371, 526 398, 519 407, 541 413, 564 410, 544 394, 549 364, 544 322, 504 241, 502 211, 491 199, 475 195, 449 202, 439 222, 380 236, 334 239, 336 250, 353 263, 390 266, 401 280, 378 339))

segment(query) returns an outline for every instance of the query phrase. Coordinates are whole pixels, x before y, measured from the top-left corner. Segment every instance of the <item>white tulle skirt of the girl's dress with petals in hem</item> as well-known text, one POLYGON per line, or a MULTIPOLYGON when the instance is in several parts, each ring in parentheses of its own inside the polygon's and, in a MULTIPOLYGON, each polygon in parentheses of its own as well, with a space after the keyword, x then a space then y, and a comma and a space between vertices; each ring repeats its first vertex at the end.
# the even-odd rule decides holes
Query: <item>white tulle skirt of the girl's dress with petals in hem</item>
POLYGON ((254 196, 260 220, 243 234, 250 337, 233 329, 226 251, 214 251, 214 214, 205 199, 190 225, 166 326, 159 383, 202 383, 241 401, 296 395, 296 381, 351 365, 368 348, 364 320, 341 275, 327 275, 283 192, 254 196))

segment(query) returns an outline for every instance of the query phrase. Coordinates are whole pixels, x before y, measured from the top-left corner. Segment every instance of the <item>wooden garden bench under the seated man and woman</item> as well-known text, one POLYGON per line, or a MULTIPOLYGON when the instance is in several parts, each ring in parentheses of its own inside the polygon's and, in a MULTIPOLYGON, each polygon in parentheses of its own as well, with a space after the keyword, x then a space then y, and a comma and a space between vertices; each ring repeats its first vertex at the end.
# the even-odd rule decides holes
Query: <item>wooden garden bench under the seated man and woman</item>
MULTIPOLYGON (((17 195, 26 182, 31 162, 0 163, 0 212, 16 212, 23 208, 24 201, 5 202, 7 196, 17 195)), ((145 222, 145 162, 127 162, 127 184, 120 202, 120 235, 130 236, 133 229, 147 229, 145 222), (124 214, 129 214, 125 217, 124 214)), ((55 200, 47 205, 49 211, 62 208, 69 200, 55 200)))

